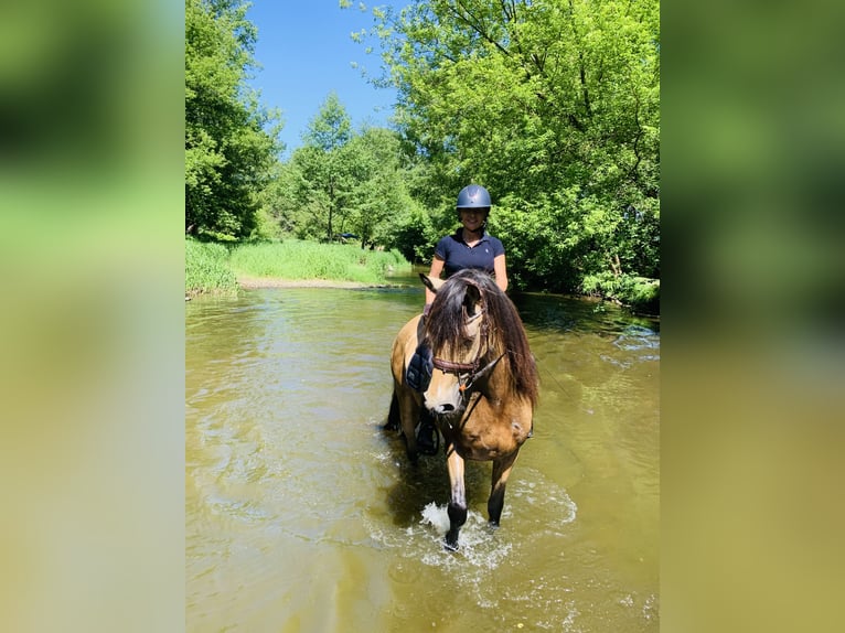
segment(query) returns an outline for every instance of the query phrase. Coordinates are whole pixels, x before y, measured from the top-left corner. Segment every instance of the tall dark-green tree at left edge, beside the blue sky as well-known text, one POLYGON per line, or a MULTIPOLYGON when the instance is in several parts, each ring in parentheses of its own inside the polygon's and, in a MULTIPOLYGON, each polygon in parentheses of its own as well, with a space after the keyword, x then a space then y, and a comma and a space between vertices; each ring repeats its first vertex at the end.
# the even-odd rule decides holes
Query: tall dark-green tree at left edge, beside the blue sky
POLYGON ((185 1, 185 233, 248 236, 280 149, 247 87, 256 29, 238 0, 185 1))

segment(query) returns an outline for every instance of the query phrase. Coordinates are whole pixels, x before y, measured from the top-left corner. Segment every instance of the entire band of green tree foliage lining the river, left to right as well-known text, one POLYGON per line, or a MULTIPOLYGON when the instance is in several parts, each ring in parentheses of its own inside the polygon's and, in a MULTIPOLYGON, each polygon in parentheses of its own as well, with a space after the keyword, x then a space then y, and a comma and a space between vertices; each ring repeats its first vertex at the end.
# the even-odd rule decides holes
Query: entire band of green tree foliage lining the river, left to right
POLYGON ((246 88, 257 34, 242 2, 186 0, 188 233, 351 233, 430 261, 475 182, 514 287, 656 300, 659 0, 376 7, 353 37, 379 44, 371 81, 397 88, 394 129, 354 130, 332 93, 284 162, 246 88))

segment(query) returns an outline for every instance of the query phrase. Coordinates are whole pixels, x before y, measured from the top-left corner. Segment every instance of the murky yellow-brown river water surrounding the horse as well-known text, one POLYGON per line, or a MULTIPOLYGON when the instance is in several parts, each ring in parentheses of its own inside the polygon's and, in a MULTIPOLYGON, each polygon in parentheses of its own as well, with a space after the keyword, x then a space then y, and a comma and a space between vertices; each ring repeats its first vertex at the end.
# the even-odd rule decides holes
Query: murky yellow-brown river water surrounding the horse
POLYGON ((404 289, 252 290, 186 304, 188 631, 659 630, 657 324, 514 300, 541 367, 502 525, 469 463, 443 550, 442 453, 381 429, 404 289))

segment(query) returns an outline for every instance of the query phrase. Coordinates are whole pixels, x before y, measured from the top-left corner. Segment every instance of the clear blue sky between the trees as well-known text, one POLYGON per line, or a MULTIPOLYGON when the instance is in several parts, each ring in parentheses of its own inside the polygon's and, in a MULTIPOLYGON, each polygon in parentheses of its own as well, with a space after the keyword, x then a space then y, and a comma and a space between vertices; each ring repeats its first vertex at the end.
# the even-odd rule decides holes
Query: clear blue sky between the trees
MULTIPOLYGON (((374 2, 383 4, 405 2, 374 2)), ((375 88, 352 65, 372 72, 381 66, 377 50, 367 55, 364 44, 352 41, 353 31, 373 25, 372 13, 357 7, 341 10, 339 0, 253 0, 247 19, 258 29, 255 58, 261 67, 250 84, 260 89, 261 104, 282 111, 286 157, 302 144, 302 132, 332 90, 356 130, 364 122, 388 125, 395 90, 375 88)))

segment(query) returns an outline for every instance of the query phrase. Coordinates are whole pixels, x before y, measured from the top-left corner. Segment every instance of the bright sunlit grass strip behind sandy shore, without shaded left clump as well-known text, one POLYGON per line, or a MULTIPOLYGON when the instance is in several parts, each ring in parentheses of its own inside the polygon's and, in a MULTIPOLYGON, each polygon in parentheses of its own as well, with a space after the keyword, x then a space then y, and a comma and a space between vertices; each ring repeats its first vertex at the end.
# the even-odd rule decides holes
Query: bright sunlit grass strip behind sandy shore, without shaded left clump
POLYGON ((384 283, 389 272, 410 268, 398 250, 363 250, 352 244, 297 239, 238 246, 232 251, 229 265, 238 276, 361 283, 384 283))

